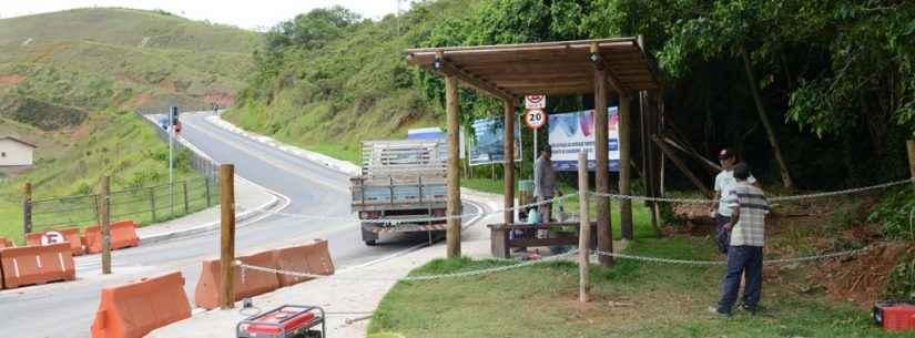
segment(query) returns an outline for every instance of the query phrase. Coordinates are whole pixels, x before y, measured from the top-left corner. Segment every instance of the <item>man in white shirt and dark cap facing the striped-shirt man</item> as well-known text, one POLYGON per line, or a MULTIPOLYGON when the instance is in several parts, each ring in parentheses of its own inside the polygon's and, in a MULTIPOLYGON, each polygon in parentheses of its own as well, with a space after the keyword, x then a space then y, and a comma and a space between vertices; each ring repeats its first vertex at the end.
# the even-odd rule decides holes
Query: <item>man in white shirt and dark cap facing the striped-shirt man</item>
MULTIPOLYGON (((738 162, 736 156, 734 156, 733 151, 730 148, 721 150, 718 154, 718 160, 721 161, 722 171, 715 176, 715 196, 712 199, 714 202, 712 204, 711 215, 712 218, 715 219, 715 243, 718 244, 718 250, 726 254, 730 232, 724 231, 724 225, 731 222, 731 208, 726 207, 722 202, 724 198, 728 198, 731 187, 738 183, 736 180, 734 180, 734 165, 738 162)), ((756 184, 756 178, 753 177, 752 174, 746 178, 746 183, 760 187, 759 184, 756 184)))

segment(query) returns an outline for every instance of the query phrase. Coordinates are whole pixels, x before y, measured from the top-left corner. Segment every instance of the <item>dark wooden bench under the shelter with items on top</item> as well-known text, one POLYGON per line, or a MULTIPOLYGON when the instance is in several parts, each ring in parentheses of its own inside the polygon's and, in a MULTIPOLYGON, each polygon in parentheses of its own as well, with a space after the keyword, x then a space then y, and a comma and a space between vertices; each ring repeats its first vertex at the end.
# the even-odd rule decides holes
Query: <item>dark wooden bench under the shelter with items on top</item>
MULTIPOLYGON (((555 245, 578 245, 578 228, 579 222, 547 222, 537 225, 511 223, 511 224, 488 224, 489 228, 490 249, 494 257, 509 258, 511 256, 512 247, 531 247, 531 246, 555 246, 555 245), (509 239, 509 233, 515 229, 522 229, 536 233, 538 229, 552 229, 557 227, 575 227, 576 233, 572 236, 560 236, 556 238, 512 238, 509 239)), ((590 246, 596 247, 597 244, 597 222, 591 222, 590 246)))

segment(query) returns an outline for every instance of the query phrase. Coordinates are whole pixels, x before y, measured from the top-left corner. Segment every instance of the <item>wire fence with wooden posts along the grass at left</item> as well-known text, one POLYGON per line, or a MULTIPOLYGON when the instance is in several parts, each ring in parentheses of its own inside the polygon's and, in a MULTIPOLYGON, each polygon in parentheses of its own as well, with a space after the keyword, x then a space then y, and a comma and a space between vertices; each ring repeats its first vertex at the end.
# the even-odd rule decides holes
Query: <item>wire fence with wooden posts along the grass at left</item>
MULTIPOLYGON (((139 224, 164 222, 218 203, 218 186, 209 177, 177 181, 111 193, 112 221, 132 219, 139 224)), ((26 232, 35 233, 99 224, 98 194, 33 199, 26 219, 26 232)))

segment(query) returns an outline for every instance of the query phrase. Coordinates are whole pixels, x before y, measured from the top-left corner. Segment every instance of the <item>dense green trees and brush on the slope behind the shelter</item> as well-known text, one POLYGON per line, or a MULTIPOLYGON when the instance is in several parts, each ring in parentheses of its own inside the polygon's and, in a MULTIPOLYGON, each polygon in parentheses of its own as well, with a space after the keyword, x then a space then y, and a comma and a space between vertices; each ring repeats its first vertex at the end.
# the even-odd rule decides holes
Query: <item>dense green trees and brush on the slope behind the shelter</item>
MULTIPOLYGON (((779 144, 794 187, 862 185, 905 174, 913 22, 915 4, 892 0, 441 0, 380 21, 322 9, 268 33, 228 117, 355 158, 359 140, 443 122, 440 79, 408 66, 406 48, 643 34, 668 117, 701 152, 734 146, 758 176, 781 183, 779 144)), ((464 92, 465 121, 500 113, 494 103, 464 92)), ((549 98, 548 109, 589 104, 549 98)))

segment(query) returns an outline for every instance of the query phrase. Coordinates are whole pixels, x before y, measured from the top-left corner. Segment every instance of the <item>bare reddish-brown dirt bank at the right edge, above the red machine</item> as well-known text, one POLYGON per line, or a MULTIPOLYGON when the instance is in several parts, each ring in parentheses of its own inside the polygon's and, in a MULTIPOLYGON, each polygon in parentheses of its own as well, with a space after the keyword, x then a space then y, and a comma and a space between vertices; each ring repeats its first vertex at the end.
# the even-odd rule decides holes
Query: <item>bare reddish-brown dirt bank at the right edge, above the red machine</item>
POLYGON ((872 307, 882 300, 889 274, 902 257, 915 254, 915 244, 889 243, 874 250, 821 266, 817 277, 831 299, 872 307))

